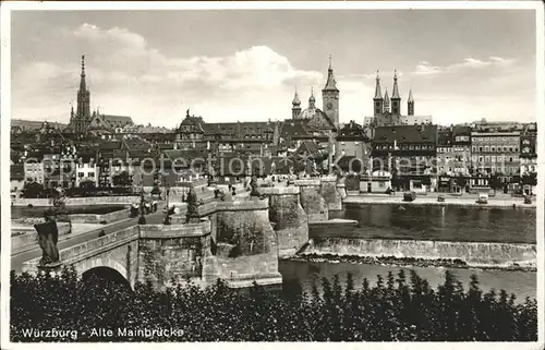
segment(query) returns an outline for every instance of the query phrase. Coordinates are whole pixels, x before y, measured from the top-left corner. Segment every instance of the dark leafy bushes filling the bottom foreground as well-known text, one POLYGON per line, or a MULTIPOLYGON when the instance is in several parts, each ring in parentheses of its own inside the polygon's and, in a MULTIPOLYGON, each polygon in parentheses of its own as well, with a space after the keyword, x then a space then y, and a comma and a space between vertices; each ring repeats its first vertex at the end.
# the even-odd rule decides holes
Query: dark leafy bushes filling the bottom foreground
POLYGON ((108 341, 536 341, 537 305, 494 290, 483 293, 472 276, 469 290, 449 271, 434 290, 414 271, 365 279, 354 288, 349 275, 340 282, 322 280, 311 293, 284 285, 282 294, 254 285, 246 293, 218 280, 199 289, 191 282, 162 291, 152 282, 134 291, 119 279, 92 275, 11 276, 12 341, 74 341, 38 339, 23 330, 75 329, 77 341, 96 341, 90 329, 180 329, 173 337, 121 337, 108 341), (288 290, 289 289, 289 290, 288 290), (293 292, 299 291, 299 292, 293 292))

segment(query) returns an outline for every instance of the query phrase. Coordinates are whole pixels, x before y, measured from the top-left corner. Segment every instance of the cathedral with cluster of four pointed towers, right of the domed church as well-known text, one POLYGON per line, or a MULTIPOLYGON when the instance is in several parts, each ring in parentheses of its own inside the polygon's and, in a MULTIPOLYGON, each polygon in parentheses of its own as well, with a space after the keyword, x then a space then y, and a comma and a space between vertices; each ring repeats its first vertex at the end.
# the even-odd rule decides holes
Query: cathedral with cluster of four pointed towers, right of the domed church
POLYGON ((432 123, 431 116, 414 116, 414 98, 412 96, 412 89, 409 90, 409 98, 407 100, 407 116, 401 113, 401 96, 399 94, 397 71, 393 71, 393 88, 391 97, 388 96, 388 89, 385 89, 383 97, 380 77, 378 76, 377 71, 373 108, 373 117, 365 117, 364 124, 366 125, 392 126, 432 123))

